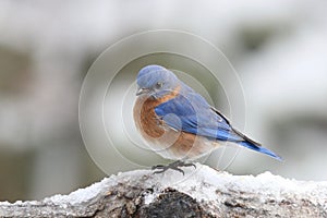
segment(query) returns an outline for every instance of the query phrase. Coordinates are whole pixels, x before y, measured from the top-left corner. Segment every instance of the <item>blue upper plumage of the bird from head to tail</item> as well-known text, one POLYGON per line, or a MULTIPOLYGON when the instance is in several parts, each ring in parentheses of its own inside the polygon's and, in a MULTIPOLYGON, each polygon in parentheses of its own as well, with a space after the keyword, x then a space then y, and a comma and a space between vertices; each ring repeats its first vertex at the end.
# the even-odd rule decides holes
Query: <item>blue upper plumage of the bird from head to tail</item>
POLYGON ((137 95, 147 94, 160 101, 155 113, 169 128, 210 141, 233 142, 281 160, 271 150, 234 130, 223 114, 164 66, 143 68, 137 75, 137 95))

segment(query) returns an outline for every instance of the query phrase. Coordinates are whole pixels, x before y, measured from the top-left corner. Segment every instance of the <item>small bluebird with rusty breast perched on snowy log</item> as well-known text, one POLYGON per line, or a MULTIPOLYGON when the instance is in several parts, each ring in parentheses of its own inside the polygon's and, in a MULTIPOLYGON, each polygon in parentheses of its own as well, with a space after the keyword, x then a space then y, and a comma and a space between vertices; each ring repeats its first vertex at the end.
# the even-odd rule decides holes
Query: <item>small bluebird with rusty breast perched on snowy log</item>
POLYGON ((263 147, 237 129, 219 110, 165 66, 142 68, 136 77, 133 108, 134 123, 148 146, 174 162, 154 166, 155 173, 195 165, 227 142, 268 155, 281 157, 263 147))

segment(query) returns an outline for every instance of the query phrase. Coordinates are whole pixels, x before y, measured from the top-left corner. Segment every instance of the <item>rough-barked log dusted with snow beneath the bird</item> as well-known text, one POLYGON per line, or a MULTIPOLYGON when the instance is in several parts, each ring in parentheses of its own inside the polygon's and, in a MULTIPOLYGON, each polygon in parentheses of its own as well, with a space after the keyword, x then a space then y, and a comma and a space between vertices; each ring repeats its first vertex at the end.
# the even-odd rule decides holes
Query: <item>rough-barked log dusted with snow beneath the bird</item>
POLYGON ((185 175, 135 170, 69 195, 3 202, 0 217, 327 217, 327 182, 232 175, 196 164, 185 175))

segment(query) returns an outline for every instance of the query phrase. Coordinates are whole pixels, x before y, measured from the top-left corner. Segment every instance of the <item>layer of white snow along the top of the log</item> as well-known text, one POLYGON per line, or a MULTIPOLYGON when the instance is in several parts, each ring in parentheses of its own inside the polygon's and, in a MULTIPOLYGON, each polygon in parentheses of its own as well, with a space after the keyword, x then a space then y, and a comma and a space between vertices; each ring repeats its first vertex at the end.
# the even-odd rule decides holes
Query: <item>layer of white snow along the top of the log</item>
MULTIPOLYGON (((145 204, 150 204, 167 187, 185 193, 198 202, 215 201, 223 202, 219 192, 250 193, 253 196, 262 197, 262 201, 274 196, 275 199, 310 198, 313 204, 326 205, 327 182, 296 181, 264 172, 254 175, 232 175, 228 172, 217 171, 207 166, 196 164, 194 168, 184 168, 185 175, 168 170, 165 173, 154 174, 150 170, 134 170, 106 178, 88 187, 80 189, 69 195, 55 195, 45 198, 46 204, 56 204, 66 207, 77 205, 97 196, 105 195, 111 186, 117 184, 152 187, 154 192, 145 194, 145 204)), ((16 204, 37 204, 37 202, 16 202, 16 204)), ((11 205, 8 202, 0 203, 0 206, 11 205)))

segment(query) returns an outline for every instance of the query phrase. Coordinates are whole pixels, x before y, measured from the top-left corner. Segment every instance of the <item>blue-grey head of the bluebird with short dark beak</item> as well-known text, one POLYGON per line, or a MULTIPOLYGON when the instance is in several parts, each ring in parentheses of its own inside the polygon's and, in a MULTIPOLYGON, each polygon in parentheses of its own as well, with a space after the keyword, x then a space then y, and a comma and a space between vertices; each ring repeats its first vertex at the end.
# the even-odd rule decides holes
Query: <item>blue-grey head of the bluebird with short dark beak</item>
POLYGON ((147 65, 140 70, 136 83, 136 95, 147 95, 160 98, 173 92, 179 86, 178 77, 161 65, 147 65))

